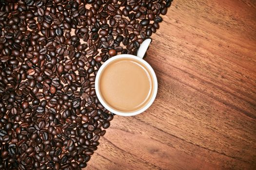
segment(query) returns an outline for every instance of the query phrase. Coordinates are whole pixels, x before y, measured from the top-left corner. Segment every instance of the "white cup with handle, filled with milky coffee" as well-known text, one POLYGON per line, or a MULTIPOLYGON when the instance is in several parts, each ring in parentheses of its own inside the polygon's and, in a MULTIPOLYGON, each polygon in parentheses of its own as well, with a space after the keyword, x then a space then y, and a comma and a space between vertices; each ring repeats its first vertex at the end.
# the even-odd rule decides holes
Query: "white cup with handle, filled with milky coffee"
POLYGON ((151 39, 144 40, 137 56, 120 54, 111 57, 98 69, 95 90, 99 102, 120 116, 144 112, 154 102, 158 81, 153 68, 143 60, 151 39))

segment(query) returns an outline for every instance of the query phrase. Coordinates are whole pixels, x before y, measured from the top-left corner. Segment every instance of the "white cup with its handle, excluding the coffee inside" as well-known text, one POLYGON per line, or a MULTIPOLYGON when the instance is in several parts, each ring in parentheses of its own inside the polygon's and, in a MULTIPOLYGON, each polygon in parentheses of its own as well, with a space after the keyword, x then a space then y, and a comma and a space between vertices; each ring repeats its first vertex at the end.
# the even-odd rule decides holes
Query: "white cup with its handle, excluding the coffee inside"
POLYGON ((156 73, 155 71, 153 70, 153 68, 145 61, 143 60, 143 56, 145 55, 147 49, 148 49, 148 46, 151 42, 151 39, 146 39, 144 40, 139 49, 138 49, 138 53, 137 53, 137 56, 135 55, 131 55, 131 54, 120 54, 120 55, 116 55, 116 56, 113 56, 111 57, 110 59, 108 59, 105 63, 102 64, 102 66, 98 69, 98 73, 96 75, 96 80, 95 80, 95 90, 96 90, 96 94, 97 94, 97 97, 98 97, 98 100, 99 102, 106 108, 108 109, 110 112, 114 113, 114 114, 117 114, 117 115, 120 115, 120 116, 134 116, 134 115, 138 115, 142 112, 144 112, 146 109, 148 109, 151 104, 154 102, 156 96, 157 96, 157 92, 158 92, 158 81, 157 81, 157 76, 156 76, 156 73), (148 70, 150 71, 152 77, 153 77, 153 84, 154 84, 154 88, 153 88, 153 95, 151 96, 151 99, 149 100, 149 102, 142 108, 140 108, 139 110, 137 111, 134 111, 134 112, 121 112, 121 111, 118 111, 112 107, 110 107, 102 98, 101 94, 100 94, 100 90, 99 90, 99 78, 100 78, 100 75, 102 73, 102 71, 104 70, 104 68, 111 62, 113 62, 114 60, 117 60, 117 59, 121 59, 121 58, 132 58, 132 59, 135 59, 135 60, 138 60, 139 62, 141 62, 142 64, 144 64, 144 66, 146 68, 148 68, 148 70))

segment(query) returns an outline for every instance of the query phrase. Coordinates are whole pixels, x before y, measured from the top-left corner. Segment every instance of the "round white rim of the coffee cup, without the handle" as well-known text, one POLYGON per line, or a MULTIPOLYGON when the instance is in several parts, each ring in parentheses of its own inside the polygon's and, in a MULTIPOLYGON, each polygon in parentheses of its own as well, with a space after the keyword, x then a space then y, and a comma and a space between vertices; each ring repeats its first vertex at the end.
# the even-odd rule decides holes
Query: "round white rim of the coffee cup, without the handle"
POLYGON ((131 54, 119 54, 116 56, 111 57, 110 59, 108 59, 105 63, 103 63, 101 65, 101 67, 98 69, 97 75, 96 75, 96 79, 95 79, 95 91, 98 97, 99 102, 110 112, 116 114, 116 115, 120 115, 120 116, 135 116, 138 115, 142 112, 144 112, 146 109, 148 109, 152 103, 155 101, 156 96, 157 96, 157 92, 158 92, 158 80, 157 80, 157 76, 156 73, 154 71, 154 69, 143 59, 139 58, 138 56, 135 55, 131 55, 131 54), (135 60, 140 61, 142 64, 144 64, 150 71, 152 77, 153 77, 153 83, 154 83, 154 89, 153 89, 153 95, 150 99, 150 101, 141 109, 134 111, 134 112, 120 112, 116 109, 111 108, 106 102, 104 102, 104 100, 102 99, 100 92, 99 92, 99 88, 98 88, 98 81, 99 81, 99 77, 101 75, 102 70, 112 61, 120 59, 120 58, 133 58, 135 60))

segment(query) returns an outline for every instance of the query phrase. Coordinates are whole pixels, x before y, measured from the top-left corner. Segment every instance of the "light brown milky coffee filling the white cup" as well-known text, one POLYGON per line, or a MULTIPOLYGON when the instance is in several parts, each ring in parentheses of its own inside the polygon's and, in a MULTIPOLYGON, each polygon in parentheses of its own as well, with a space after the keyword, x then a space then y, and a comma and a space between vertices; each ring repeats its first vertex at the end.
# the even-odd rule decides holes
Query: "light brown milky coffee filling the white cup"
POLYGON ((101 97, 120 112, 134 112, 144 107, 153 95, 153 87, 148 68, 132 58, 114 60, 99 77, 101 97))

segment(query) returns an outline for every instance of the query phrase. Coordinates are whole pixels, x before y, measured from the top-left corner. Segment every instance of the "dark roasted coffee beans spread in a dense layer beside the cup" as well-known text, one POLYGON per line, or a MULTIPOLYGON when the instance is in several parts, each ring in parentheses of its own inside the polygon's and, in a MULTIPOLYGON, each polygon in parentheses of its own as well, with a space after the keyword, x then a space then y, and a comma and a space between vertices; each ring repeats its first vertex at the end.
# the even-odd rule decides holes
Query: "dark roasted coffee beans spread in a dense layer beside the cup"
POLYGON ((79 170, 113 114, 95 76, 136 54, 172 0, 0 0, 0 170, 79 170))

